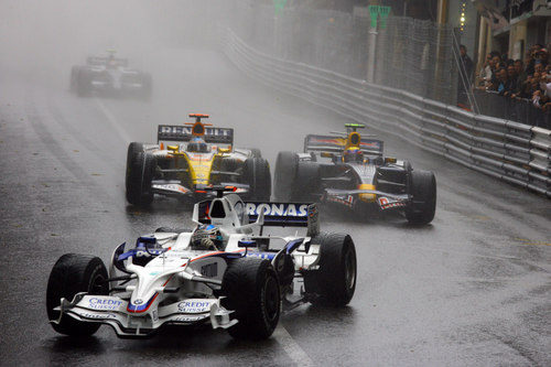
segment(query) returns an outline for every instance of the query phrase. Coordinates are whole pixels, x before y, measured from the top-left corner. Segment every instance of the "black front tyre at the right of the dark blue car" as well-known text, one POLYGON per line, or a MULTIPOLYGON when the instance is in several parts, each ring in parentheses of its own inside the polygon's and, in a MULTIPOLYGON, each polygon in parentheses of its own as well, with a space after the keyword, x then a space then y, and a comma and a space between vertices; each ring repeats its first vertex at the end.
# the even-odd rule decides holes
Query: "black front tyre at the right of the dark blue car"
POLYGON ((436 212, 436 177, 429 171, 411 171, 410 205, 406 218, 414 225, 425 225, 434 219, 436 212))

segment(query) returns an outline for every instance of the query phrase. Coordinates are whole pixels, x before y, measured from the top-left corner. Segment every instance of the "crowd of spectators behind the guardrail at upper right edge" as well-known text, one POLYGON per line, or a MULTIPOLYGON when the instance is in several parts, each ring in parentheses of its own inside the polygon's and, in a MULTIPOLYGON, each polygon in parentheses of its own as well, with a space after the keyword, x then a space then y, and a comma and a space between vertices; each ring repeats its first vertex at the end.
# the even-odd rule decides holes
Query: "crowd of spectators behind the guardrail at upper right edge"
POLYGON ((530 100, 551 111, 551 64, 549 51, 540 44, 531 46, 526 62, 491 52, 478 74, 478 88, 490 90, 504 98, 530 100))

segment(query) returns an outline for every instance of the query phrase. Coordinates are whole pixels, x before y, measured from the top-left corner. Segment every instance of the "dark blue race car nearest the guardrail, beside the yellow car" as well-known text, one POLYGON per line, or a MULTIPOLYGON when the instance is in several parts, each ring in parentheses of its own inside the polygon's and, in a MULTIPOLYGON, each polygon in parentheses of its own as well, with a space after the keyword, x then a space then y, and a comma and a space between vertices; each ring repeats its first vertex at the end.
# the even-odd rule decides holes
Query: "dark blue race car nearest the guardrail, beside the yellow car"
POLYGON ((337 203, 360 215, 372 208, 398 209, 412 224, 432 222, 436 205, 434 173, 413 170, 408 161, 385 158, 382 141, 358 133, 364 125, 347 123, 346 128, 346 132, 334 136, 309 134, 303 153, 279 153, 276 199, 337 203), (317 162, 318 155, 328 160, 317 162))

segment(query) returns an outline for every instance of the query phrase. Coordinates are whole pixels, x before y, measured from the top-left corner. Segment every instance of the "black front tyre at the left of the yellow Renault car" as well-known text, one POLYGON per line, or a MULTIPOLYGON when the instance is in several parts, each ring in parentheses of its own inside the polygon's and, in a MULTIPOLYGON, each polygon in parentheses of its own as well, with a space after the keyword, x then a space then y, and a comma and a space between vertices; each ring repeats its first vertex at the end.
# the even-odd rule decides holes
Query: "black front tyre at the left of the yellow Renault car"
POLYGON ((155 173, 155 158, 147 152, 140 152, 129 161, 126 177, 127 199, 132 205, 147 206, 153 201, 151 182, 155 173))

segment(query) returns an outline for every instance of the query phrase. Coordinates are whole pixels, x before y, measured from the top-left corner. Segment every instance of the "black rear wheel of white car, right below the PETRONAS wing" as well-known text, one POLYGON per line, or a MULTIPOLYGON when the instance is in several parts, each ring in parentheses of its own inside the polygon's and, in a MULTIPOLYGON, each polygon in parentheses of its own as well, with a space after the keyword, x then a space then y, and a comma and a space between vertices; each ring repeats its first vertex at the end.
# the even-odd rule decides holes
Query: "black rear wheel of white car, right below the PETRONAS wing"
POLYGON ((304 273, 306 293, 313 303, 344 306, 356 290, 356 248, 346 234, 320 234, 312 239, 320 245, 320 269, 304 273))

